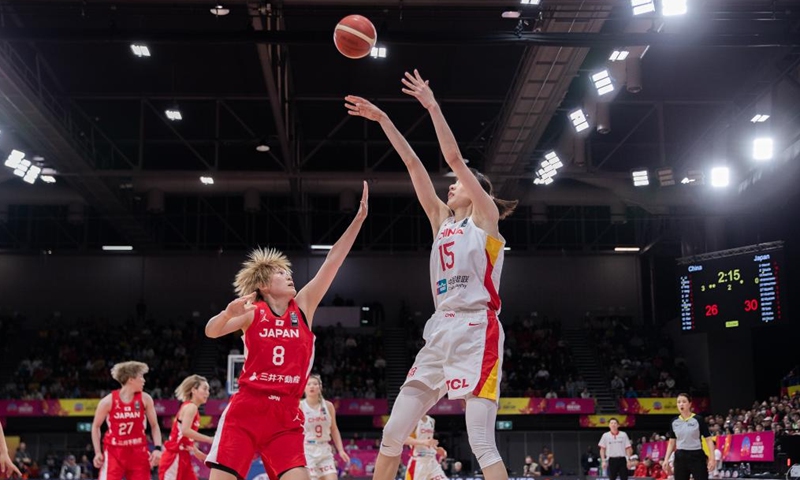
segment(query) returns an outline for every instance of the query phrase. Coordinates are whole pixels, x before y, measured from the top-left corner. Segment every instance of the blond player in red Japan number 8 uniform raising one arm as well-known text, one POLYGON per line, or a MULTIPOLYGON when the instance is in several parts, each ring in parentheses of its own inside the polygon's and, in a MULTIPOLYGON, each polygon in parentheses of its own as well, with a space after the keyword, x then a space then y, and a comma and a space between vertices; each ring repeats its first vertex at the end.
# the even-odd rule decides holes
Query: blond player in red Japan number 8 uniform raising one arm
POLYGON ((256 249, 236 275, 239 298, 206 325, 211 338, 243 330, 246 352, 239 391, 220 418, 206 459, 209 480, 246 478, 256 453, 273 480, 309 479, 299 405, 314 359, 311 324, 367 217, 367 193, 364 182, 355 219, 299 292, 289 259, 256 249))

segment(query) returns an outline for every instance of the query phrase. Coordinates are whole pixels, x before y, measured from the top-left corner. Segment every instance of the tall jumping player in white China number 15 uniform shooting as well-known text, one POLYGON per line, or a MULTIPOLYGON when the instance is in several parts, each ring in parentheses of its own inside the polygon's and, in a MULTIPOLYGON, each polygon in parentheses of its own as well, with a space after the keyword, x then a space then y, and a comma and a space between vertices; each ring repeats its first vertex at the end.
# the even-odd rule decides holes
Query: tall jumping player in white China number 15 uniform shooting
POLYGON ((425 324, 425 346, 383 429, 373 480, 394 478, 415 420, 444 394, 466 401, 469 444, 484 478, 506 480, 494 436, 504 339, 497 318, 505 246, 499 221, 517 202, 497 198, 489 179, 467 167, 430 85, 419 72, 406 72, 402 83, 403 93, 419 100, 430 114, 442 155, 457 181, 443 202, 425 165, 386 113, 364 98, 345 97, 348 113, 378 122, 397 150, 433 233, 430 288, 436 312, 425 324))

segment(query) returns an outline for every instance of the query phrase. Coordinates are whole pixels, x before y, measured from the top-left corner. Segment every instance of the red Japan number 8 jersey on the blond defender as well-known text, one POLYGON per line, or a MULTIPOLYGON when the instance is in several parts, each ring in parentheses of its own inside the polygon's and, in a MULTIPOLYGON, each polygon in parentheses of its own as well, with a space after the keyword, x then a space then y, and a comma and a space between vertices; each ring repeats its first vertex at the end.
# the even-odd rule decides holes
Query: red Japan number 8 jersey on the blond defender
POLYGON ((244 334, 247 356, 239 385, 272 394, 275 400, 299 401, 314 361, 314 334, 294 299, 281 316, 266 302, 255 307, 253 323, 244 334))

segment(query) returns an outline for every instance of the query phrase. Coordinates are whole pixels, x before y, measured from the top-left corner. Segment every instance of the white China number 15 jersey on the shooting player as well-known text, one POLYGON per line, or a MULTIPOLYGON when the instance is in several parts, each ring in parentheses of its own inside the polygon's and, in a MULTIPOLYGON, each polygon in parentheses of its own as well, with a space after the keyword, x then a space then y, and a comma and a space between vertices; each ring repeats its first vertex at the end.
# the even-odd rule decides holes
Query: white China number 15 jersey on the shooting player
POLYGON ((500 272, 505 239, 472 222, 449 217, 431 249, 431 291, 438 311, 500 311, 500 272))

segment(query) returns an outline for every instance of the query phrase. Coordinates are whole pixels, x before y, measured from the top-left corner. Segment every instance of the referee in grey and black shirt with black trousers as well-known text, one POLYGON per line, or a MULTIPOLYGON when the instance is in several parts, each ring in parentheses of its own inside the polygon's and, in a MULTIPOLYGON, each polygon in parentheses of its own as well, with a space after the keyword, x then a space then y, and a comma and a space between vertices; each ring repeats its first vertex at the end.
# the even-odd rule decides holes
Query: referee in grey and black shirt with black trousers
POLYGON ((680 415, 672 420, 669 432, 669 443, 664 457, 664 471, 670 473, 669 459, 675 452, 675 465, 672 467, 675 480, 708 480, 708 472, 716 468, 714 459, 714 442, 708 431, 705 419, 692 413, 692 399, 686 393, 678 394, 678 411, 680 415), (706 442, 707 456, 703 451, 706 442))

